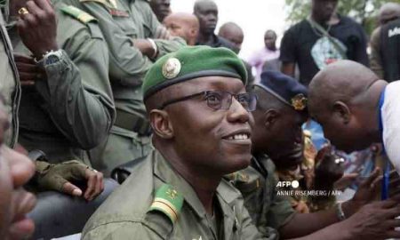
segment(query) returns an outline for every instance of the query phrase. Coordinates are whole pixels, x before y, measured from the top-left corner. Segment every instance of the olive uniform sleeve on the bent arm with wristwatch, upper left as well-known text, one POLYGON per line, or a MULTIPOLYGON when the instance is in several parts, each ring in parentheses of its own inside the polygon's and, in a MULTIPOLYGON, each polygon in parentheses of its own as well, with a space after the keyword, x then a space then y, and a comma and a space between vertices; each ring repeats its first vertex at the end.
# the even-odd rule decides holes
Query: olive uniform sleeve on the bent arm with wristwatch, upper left
POLYGON ((62 46, 61 60, 47 65, 47 80, 36 84, 60 132, 90 149, 108 136, 114 117, 108 81, 108 52, 101 38, 82 28, 62 46))

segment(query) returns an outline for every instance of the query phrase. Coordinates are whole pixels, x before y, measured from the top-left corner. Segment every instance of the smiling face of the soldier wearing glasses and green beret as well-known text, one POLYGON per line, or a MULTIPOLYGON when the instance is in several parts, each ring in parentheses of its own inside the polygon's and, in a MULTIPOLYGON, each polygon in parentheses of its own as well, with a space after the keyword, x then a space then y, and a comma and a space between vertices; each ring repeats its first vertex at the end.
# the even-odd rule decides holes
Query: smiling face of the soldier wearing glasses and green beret
MULTIPOLYGON (((239 79, 221 76, 200 77, 174 87, 176 97, 210 90, 245 92, 239 79)), ((203 97, 181 101, 166 110, 177 152, 199 174, 227 174, 250 164, 252 115, 235 98, 228 110, 210 108, 203 97)))

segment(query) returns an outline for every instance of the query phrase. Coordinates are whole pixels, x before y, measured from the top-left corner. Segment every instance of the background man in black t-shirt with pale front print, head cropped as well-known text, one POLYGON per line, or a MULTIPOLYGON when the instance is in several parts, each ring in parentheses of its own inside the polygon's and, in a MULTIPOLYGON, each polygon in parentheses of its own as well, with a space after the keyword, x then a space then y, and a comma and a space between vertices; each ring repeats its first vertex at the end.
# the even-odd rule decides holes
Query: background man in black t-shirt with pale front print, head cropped
POLYGON ((338 0, 312 0, 311 16, 286 31, 281 44, 282 71, 308 85, 316 73, 336 60, 355 60, 368 66, 364 29, 336 13, 338 0), (322 29, 321 29, 322 28, 322 29))

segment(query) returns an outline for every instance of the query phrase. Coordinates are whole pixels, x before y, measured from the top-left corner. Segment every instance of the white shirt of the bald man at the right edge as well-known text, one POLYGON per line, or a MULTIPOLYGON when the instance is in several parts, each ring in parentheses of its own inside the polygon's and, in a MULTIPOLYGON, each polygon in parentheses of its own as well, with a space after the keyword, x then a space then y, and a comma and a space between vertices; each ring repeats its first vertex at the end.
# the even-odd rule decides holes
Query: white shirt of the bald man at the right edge
POLYGON ((385 100, 380 110, 383 125, 383 145, 390 162, 400 173, 400 81, 387 85, 385 100))

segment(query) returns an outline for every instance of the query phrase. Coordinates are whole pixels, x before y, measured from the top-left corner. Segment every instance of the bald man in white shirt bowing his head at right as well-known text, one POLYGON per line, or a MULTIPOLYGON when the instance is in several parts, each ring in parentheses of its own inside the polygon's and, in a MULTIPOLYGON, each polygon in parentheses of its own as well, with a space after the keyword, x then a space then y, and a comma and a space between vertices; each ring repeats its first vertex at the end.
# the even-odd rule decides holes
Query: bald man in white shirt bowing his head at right
POLYGON ((388 84, 369 68, 341 60, 313 78, 308 108, 332 145, 351 152, 381 142, 400 172, 400 82, 388 84))

